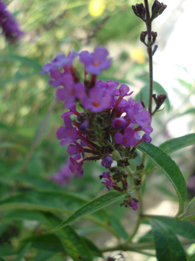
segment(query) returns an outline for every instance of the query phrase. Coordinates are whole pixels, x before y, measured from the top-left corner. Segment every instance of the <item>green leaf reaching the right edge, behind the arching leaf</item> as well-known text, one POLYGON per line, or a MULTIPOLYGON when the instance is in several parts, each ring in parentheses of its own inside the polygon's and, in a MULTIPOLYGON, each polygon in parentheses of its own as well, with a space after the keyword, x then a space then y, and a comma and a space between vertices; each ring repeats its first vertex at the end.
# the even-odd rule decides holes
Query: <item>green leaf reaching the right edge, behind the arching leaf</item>
POLYGON ((159 148, 167 154, 195 144, 195 133, 188 134, 162 143, 159 148))

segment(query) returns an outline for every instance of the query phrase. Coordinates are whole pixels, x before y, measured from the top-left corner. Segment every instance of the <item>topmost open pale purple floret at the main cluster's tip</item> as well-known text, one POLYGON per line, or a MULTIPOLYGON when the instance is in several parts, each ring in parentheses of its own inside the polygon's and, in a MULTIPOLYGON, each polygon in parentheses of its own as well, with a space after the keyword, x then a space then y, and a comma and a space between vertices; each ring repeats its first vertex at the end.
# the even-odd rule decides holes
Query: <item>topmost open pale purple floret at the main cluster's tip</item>
POLYGON ((81 63, 85 66, 85 71, 92 75, 101 74, 101 70, 108 69, 112 59, 107 60, 109 55, 104 47, 97 47, 94 53, 82 51, 79 55, 81 63))

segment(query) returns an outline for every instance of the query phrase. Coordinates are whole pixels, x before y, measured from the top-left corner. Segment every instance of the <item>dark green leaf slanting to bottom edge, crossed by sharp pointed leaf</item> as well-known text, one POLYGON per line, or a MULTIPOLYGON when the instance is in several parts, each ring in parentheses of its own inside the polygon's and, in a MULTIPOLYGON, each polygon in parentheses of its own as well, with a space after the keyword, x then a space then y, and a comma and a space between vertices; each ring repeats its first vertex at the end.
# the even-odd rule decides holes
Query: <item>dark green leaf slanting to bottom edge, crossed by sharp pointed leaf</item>
MULTIPOLYGON (((62 221, 62 219, 51 213, 47 213, 46 218, 51 224, 51 227, 56 227, 62 221)), ((89 247, 83 239, 77 235, 73 228, 66 226, 56 233, 61 239, 65 251, 74 261, 80 261, 82 259, 87 261, 93 260, 89 247)))

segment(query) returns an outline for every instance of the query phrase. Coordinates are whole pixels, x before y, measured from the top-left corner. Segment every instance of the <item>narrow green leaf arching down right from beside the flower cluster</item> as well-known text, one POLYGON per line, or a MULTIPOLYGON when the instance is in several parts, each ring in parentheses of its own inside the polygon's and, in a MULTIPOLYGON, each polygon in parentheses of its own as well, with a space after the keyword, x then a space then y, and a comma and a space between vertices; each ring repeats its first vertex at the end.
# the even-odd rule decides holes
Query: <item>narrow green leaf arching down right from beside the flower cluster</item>
POLYGON ((181 214, 184 210, 187 187, 179 167, 165 152, 150 143, 143 142, 138 146, 138 149, 142 151, 169 178, 175 187, 179 200, 178 215, 181 214))

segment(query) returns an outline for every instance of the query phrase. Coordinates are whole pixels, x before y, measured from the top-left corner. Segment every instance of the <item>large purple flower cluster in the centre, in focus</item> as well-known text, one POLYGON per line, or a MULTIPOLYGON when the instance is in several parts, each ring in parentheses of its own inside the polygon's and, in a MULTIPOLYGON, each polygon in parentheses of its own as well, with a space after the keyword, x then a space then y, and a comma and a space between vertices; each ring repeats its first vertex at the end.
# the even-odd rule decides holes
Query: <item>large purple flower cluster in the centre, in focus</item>
MULTIPOLYGON (((61 53, 51 63, 45 64, 41 73, 50 74, 49 83, 58 87, 56 95, 69 109, 62 115, 64 126, 57 130, 57 137, 62 146, 68 144, 70 171, 80 178, 85 161, 102 160, 101 165, 108 170, 101 175, 104 178, 102 183, 109 190, 113 187, 123 191, 127 190, 124 168, 136 156, 134 152, 138 144, 151 142, 152 127, 150 114, 140 102, 129 97, 132 92, 127 85, 119 87, 116 81, 96 80, 97 75, 110 66, 108 55, 104 47, 97 47, 93 53, 69 52, 67 56, 61 53), (83 83, 73 66, 76 57, 84 65, 83 83), (139 131, 144 134, 140 136, 139 131), (124 163, 120 160, 118 167, 113 169, 113 152, 118 151, 123 158, 127 149, 129 154, 124 163)), ((136 205, 132 207, 136 208, 136 205)))

